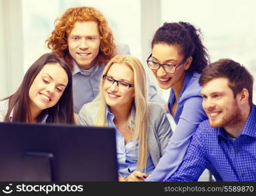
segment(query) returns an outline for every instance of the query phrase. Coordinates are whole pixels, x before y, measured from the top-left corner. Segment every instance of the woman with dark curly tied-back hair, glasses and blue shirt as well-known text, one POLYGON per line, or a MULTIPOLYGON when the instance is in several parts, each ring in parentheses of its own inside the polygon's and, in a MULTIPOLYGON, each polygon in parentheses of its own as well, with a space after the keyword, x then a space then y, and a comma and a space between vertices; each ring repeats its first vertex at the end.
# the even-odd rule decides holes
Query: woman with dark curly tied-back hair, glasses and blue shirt
POLYGON ((147 65, 160 88, 170 90, 168 110, 176 128, 148 181, 165 181, 177 170, 198 124, 207 119, 202 108, 200 74, 209 63, 200 29, 188 22, 164 23, 151 42, 147 65))

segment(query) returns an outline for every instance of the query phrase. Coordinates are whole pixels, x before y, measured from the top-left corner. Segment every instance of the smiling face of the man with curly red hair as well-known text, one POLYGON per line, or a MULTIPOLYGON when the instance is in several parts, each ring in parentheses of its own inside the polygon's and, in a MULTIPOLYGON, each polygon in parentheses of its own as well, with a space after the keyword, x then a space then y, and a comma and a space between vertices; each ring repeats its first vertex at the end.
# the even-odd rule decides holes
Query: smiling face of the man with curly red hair
POLYGON ((75 22, 67 37, 69 53, 81 69, 94 66, 100 51, 100 32, 97 22, 75 22))

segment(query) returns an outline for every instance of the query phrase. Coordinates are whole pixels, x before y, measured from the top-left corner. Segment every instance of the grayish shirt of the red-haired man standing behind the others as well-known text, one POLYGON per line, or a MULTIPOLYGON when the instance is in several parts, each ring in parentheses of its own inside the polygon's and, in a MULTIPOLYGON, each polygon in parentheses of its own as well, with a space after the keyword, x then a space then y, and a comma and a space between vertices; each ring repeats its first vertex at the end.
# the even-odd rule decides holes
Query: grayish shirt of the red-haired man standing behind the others
MULTIPOLYGON (((129 55, 130 50, 126 44, 119 44, 117 54, 129 55)), ((94 67, 88 70, 81 70, 75 61, 73 61, 73 102, 75 113, 78 114, 85 103, 91 102, 98 95, 101 74, 104 68, 105 64, 102 64, 94 65, 94 67)), ((149 84, 149 101, 165 105, 166 102, 164 99, 157 95, 155 84, 149 81, 149 78, 147 80, 149 84)))

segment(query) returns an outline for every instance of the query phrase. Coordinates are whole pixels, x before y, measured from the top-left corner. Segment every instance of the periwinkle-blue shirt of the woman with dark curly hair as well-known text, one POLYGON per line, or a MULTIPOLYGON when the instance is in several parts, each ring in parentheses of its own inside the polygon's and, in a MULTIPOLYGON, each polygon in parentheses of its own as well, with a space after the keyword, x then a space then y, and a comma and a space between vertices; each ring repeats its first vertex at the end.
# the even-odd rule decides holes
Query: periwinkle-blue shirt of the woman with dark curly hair
MULTIPOLYGON (((194 131, 196 131, 200 122, 207 119, 202 108, 199 78, 199 73, 186 73, 173 116, 177 126, 168 146, 166 146, 164 156, 161 157, 155 170, 146 181, 165 181, 177 170, 187 152, 194 131)), ((172 105, 174 104, 174 96, 174 90, 171 90, 168 101, 170 111, 172 111, 172 105)))

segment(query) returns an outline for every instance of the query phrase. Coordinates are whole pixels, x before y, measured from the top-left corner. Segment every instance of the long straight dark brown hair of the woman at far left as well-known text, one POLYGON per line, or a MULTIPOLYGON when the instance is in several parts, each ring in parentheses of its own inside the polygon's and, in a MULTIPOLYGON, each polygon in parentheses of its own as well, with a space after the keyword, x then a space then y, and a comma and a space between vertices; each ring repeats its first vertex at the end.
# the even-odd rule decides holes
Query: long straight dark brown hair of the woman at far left
MULTIPOLYGON (((9 106, 5 116, 5 122, 10 122, 10 113, 13 111, 12 122, 30 122, 31 112, 29 110, 29 89, 35 80, 35 77, 43 69, 47 63, 59 63, 67 73, 68 83, 64 93, 58 103, 51 108, 47 108, 48 118, 47 123, 75 123, 73 117, 73 93, 72 93, 72 74, 67 66, 67 63, 54 53, 47 53, 39 57, 31 67, 27 70, 22 84, 18 90, 9 97, 9 106)), ((3 100, 5 100, 3 99, 3 100)), ((39 120, 45 114, 45 110, 38 116, 39 120)))

